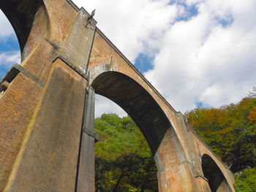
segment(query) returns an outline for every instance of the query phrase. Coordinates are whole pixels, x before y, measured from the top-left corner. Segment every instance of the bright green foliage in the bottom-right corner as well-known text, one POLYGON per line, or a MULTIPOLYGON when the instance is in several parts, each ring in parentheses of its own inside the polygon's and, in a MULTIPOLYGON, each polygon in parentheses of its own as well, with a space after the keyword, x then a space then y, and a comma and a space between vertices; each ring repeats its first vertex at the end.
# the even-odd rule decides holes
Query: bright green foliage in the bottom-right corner
POLYGON ((256 168, 245 169, 241 174, 235 174, 236 192, 256 191, 256 168))

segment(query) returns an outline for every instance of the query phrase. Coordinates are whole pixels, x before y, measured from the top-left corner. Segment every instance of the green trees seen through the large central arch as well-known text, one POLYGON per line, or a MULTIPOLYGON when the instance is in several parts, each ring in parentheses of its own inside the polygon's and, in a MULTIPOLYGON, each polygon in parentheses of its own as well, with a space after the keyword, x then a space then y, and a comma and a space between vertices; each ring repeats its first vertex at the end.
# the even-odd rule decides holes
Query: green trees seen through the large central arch
POLYGON ((157 191, 157 167, 146 139, 129 117, 95 120, 96 191, 157 191))

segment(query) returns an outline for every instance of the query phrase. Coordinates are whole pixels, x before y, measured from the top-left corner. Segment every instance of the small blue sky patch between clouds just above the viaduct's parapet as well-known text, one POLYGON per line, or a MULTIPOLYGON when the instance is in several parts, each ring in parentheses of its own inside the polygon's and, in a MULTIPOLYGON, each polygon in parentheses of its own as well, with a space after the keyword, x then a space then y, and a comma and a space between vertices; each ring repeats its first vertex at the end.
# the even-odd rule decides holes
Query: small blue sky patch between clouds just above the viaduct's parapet
POLYGON ((149 69, 153 69, 154 57, 140 53, 135 60, 135 67, 141 72, 147 72, 149 69))

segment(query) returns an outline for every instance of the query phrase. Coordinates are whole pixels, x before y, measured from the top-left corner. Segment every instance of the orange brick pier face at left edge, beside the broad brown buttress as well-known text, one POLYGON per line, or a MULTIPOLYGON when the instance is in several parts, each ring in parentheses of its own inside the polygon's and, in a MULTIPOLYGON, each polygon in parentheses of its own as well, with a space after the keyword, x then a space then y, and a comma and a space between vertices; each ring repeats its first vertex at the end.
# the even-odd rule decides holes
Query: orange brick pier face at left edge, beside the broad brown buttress
POLYGON ((0 191, 7 182, 42 87, 18 74, 0 99, 0 191))

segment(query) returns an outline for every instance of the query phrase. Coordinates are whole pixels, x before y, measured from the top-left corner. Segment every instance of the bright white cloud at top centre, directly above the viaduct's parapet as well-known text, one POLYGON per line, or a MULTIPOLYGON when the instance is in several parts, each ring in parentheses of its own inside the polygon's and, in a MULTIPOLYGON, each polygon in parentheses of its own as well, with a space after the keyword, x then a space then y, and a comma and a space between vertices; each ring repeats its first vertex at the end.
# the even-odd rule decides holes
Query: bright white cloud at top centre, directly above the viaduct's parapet
POLYGON ((134 62, 139 53, 151 54, 180 9, 167 0, 75 0, 88 12, 96 9, 97 26, 134 62))

